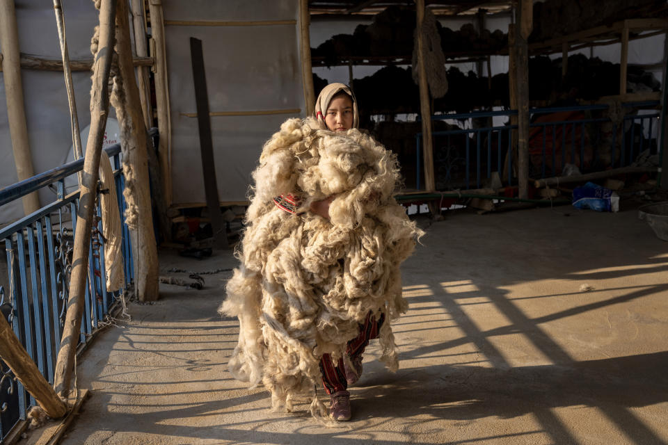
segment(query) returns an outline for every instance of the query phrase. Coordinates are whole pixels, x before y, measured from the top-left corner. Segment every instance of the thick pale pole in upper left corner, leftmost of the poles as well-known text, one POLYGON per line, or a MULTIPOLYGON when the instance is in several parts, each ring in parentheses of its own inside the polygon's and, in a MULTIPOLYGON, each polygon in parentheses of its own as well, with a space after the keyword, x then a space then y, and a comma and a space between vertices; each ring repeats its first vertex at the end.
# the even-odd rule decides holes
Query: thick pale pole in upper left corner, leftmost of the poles
MULTIPOLYGON (((2 43, 3 81, 7 101, 9 133, 14 152, 16 175, 19 181, 35 175, 33 159, 28 139, 26 108, 23 98, 21 79, 21 54, 19 52, 19 33, 16 24, 14 0, 0 0, 0 42, 2 43)), ((40 208, 37 192, 23 197, 23 211, 26 215, 40 208)))

